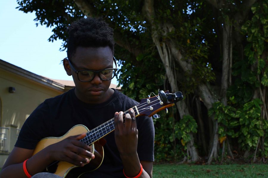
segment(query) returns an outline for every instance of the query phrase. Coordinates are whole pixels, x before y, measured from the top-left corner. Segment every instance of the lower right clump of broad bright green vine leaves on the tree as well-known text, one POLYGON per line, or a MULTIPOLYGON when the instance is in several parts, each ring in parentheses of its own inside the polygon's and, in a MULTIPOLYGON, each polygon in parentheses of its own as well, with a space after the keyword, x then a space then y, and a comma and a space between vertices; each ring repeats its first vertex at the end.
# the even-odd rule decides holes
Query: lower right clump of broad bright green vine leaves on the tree
MULTIPOLYGON (((234 100, 234 97, 230 98, 234 100)), ((235 109, 216 102, 209 110, 209 115, 215 116, 219 122, 219 135, 238 138, 243 150, 255 150, 259 139, 263 139, 261 156, 268 154, 268 121, 261 118, 261 100, 256 98, 235 109)))

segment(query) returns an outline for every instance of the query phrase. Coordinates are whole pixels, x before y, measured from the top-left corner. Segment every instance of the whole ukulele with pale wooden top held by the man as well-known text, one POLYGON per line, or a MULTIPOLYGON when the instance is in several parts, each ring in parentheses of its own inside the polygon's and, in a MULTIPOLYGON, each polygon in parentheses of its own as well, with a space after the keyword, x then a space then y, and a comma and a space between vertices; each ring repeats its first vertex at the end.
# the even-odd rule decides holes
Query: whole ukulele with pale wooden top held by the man
MULTIPOLYGON (((177 93, 169 93, 168 90, 166 92, 162 90, 159 91, 158 96, 148 97, 149 98, 141 99, 139 105, 132 107, 136 117, 147 115, 148 117, 154 116, 155 118, 159 118, 160 116, 156 114, 157 112, 163 109, 167 110, 168 107, 174 106, 177 101, 183 99, 183 95, 180 91, 177 93)), ((128 110, 124 112, 124 115, 127 113, 128 110)), ((47 146, 60 142, 69 136, 86 133, 86 136, 80 141, 92 147, 92 153, 95 155, 93 160, 88 158, 90 160, 89 163, 85 164, 83 167, 65 161, 55 161, 44 170, 44 172, 50 172, 63 178, 80 177, 86 172, 98 169, 102 164, 104 158, 103 146, 106 142, 103 137, 110 134, 112 131, 114 131, 114 118, 92 130, 89 130, 85 125, 75 125, 61 137, 47 137, 40 140, 35 147, 33 155, 47 146)))

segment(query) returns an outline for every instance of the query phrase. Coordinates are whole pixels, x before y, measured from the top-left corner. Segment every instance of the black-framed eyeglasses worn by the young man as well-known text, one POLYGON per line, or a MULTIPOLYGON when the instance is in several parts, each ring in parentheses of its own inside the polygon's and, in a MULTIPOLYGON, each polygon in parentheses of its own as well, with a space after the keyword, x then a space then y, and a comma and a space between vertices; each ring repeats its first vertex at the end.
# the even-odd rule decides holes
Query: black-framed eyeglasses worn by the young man
MULTIPOLYGON (((116 65, 116 68, 103 69, 103 70, 100 70, 100 71, 76 70, 76 69, 74 69, 74 66, 72 65, 71 61, 70 60, 68 60, 68 61, 69 61, 69 65, 70 65, 71 69, 73 69, 73 71, 77 74, 77 78, 81 82, 89 82, 89 81, 91 81, 92 79, 94 79, 96 74, 99 75, 99 78, 101 80, 105 80, 105 81, 106 80, 112 80, 113 77, 115 76, 116 71, 117 71, 117 65, 116 65)), ((116 60, 115 60, 114 57, 113 57, 113 61, 116 64, 116 60)))

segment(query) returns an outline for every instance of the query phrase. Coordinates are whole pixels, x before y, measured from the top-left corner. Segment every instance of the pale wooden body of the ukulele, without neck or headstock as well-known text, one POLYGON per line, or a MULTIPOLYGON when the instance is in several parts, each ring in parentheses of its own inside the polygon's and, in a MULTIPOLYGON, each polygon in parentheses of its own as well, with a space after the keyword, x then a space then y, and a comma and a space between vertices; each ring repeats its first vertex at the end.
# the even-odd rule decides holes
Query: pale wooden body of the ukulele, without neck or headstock
MULTIPOLYGON (((61 137, 44 138, 38 142, 33 155, 48 147, 49 145, 60 142, 69 136, 75 136, 87 132, 89 132, 89 130, 85 125, 75 125, 65 135, 61 137)), ((57 161, 48 166, 45 172, 53 173, 63 178, 73 178, 80 177, 80 175, 86 172, 98 169, 99 166, 102 164, 104 158, 103 147, 99 141, 93 143, 91 146, 92 153, 95 155, 95 158, 93 160, 89 158, 89 163, 85 164, 85 166, 80 167, 65 161, 57 161)))

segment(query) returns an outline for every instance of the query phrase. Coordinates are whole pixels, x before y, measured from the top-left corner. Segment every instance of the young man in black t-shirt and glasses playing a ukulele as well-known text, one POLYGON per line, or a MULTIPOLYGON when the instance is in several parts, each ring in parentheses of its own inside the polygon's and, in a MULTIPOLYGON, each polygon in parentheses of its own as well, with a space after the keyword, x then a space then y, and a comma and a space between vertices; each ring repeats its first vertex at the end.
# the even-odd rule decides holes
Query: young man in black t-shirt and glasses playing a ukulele
POLYGON ((68 59, 63 65, 75 88, 45 100, 27 118, 0 177, 52 177, 54 174, 37 173, 55 161, 86 167, 89 159, 95 158, 92 147, 80 142, 86 134, 67 137, 35 155, 33 152, 43 138, 61 137, 77 124, 91 130, 113 117, 115 130, 104 137, 102 164, 94 171, 81 172, 80 178, 152 177, 152 118, 135 118, 131 108, 138 103, 109 88, 116 71, 113 29, 101 19, 81 18, 71 24, 68 33, 68 59), (123 121, 122 111, 128 109, 123 121))

